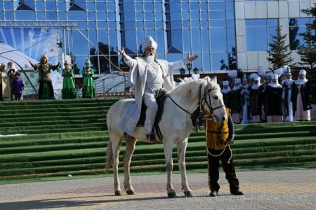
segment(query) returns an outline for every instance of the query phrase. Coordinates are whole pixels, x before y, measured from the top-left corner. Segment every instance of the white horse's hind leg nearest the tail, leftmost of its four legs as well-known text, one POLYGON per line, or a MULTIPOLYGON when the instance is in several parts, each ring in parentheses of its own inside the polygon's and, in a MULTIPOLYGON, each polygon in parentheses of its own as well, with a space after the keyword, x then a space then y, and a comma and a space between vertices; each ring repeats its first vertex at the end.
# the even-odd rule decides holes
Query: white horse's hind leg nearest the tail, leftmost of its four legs
POLYGON ((110 133, 113 151, 113 176, 114 176, 114 192, 115 195, 121 195, 121 186, 119 183, 119 149, 121 148, 121 137, 110 133))

